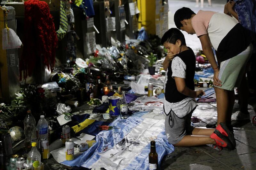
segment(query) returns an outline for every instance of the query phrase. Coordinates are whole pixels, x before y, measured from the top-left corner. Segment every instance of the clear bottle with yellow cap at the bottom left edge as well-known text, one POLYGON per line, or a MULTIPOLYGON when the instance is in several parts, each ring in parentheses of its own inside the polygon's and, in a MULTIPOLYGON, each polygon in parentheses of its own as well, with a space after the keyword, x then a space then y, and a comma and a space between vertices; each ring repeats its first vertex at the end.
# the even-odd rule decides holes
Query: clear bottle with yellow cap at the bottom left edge
POLYGON ((39 151, 37 151, 36 142, 33 142, 31 146, 31 151, 28 152, 27 156, 27 164, 31 166, 32 169, 39 170, 41 164, 41 154, 39 151))

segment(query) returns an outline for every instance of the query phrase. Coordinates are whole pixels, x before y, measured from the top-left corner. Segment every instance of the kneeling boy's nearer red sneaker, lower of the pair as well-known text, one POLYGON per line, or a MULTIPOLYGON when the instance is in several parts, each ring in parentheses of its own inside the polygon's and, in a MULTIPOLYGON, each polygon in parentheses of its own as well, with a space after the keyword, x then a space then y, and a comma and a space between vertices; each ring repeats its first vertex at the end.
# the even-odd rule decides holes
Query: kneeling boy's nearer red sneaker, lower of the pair
POLYGON ((233 144, 230 142, 227 136, 224 136, 220 133, 219 130, 215 129, 210 138, 214 139, 217 146, 228 148, 233 150, 233 144))

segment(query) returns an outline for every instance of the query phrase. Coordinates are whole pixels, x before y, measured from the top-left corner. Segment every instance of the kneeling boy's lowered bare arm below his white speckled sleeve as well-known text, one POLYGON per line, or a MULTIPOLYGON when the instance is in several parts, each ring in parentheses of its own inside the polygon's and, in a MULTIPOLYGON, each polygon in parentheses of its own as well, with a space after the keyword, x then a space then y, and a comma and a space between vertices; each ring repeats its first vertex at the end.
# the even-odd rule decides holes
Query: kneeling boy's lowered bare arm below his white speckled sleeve
POLYGON ((186 86, 186 83, 185 83, 185 79, 184 78, 179 78, 179 77, 174 77, 174 80, 175 80, 175 84, 177 86, 177 90, 186 95, 186 96, 189 96, 189 97, 193 97, 193 98, 197 98, 199 97, 200 95, 203 95, 204 94, 204 91, 203 90, 199 90, 199 91, 194 91, 194 90, 191 90, 190 88, 188 88, 186 86))

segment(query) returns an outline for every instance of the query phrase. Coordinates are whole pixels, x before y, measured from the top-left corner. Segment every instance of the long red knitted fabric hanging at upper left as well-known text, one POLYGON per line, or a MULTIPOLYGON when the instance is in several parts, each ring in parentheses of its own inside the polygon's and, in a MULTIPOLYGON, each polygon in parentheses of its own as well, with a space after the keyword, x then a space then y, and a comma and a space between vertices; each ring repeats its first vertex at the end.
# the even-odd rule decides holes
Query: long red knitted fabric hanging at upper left
POLYGON ((36 62, 44 58, 44 65, 52 70, 55 63, 57 35, 49 6, 44 1, 28 0, 24 3, 24 40, 20 60, 20 79, 31 76, 36 62))

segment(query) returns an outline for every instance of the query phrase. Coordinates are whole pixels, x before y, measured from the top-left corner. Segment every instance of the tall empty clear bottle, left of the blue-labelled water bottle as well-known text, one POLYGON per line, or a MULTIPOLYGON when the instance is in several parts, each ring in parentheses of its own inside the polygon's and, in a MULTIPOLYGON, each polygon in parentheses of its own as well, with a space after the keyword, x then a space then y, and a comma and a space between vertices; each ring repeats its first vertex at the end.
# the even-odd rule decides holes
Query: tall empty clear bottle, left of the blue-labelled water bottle
POLYGON ((36 135, 36 120, 31 114, 31 110, 28 110, 28 114, 24 119, 24 129, 25 129, 25 147, 31 148, 32 142, 37 142, 36 135))

